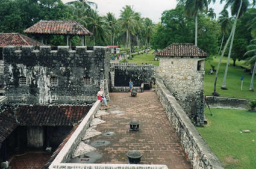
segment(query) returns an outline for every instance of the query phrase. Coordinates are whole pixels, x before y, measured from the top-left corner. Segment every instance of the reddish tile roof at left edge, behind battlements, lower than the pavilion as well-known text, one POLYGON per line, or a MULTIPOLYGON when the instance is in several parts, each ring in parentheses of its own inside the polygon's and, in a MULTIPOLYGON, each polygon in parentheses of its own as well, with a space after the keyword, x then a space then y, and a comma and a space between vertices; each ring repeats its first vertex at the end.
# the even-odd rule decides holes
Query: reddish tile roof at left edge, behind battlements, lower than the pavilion
MULTIPOLYGON (((37 41, 37 45, 43 44, 37 41)), ((33 38, 19 33, 0 33, 0 47, 4 46, 33 46, 33 38)))

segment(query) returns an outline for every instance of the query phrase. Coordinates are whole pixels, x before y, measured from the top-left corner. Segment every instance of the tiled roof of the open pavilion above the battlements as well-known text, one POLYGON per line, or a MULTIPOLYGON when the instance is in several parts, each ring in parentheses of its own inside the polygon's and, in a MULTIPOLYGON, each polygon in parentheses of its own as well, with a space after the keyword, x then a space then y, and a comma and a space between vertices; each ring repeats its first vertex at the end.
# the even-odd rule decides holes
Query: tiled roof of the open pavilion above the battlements
POLYGON ((76 20, 40 20, 24 32, 26 34, 92 35, 76 20))

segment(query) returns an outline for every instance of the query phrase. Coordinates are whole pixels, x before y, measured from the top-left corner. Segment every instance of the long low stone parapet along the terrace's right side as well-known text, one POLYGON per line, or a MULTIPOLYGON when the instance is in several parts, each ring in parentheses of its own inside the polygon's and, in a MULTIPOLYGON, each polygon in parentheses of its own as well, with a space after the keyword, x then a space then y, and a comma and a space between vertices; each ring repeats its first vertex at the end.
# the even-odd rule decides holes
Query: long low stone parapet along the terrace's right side
POLYGON ((166 111, 176 134, 180 138, 181 145, 195 169, 222 168, 219 159, 211 152, 210 147, 198 133, 195 126, 187 117, 186 112, 179 105, 175 97, 165 87, 163 81, 157 79, 155 91, 166 111))

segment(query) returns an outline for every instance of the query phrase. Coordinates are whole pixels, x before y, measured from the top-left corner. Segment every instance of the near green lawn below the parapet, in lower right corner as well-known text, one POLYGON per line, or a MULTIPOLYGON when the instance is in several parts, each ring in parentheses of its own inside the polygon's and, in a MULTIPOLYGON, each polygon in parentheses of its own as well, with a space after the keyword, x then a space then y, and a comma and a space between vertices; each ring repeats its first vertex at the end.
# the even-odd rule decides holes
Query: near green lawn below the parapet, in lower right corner
POLYGON ((225 168, 256 168, 256 112, 234 109, 214 109, 208 124, 197 128, 225 168), (241 133, 248 129, 251 133, 241 133))

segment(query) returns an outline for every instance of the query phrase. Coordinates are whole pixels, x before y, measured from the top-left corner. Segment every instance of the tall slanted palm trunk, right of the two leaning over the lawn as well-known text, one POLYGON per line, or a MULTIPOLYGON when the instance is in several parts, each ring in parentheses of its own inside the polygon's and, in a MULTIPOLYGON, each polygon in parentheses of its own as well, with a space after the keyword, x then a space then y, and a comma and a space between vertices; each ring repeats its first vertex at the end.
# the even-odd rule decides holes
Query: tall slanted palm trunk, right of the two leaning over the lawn
POLYGON ((222 86, 221 86, 222 90, 227 90, 227 88, 226 88, 226 75, 228 74, 229 60, 230 60, 230 57, 231 57, 234 36, 235 36, 235 33, 236 33, 237 19, 238 19, 240 10, 242 8, 242 2, 243 1, 241 0, 240 1, 240 7, 239 7, 239 10, 238 10, 238 13, 237 13, 237 17, 236 17, 236 20, 235 20, 235 22, 233 24, 233 34, 232 34, 231 43, 230 43, 230 46, 229 46, 228 60, 226 61, 226 68, 225 68, 225 73, 224 73, 223 82, 222 82, 222 86))

